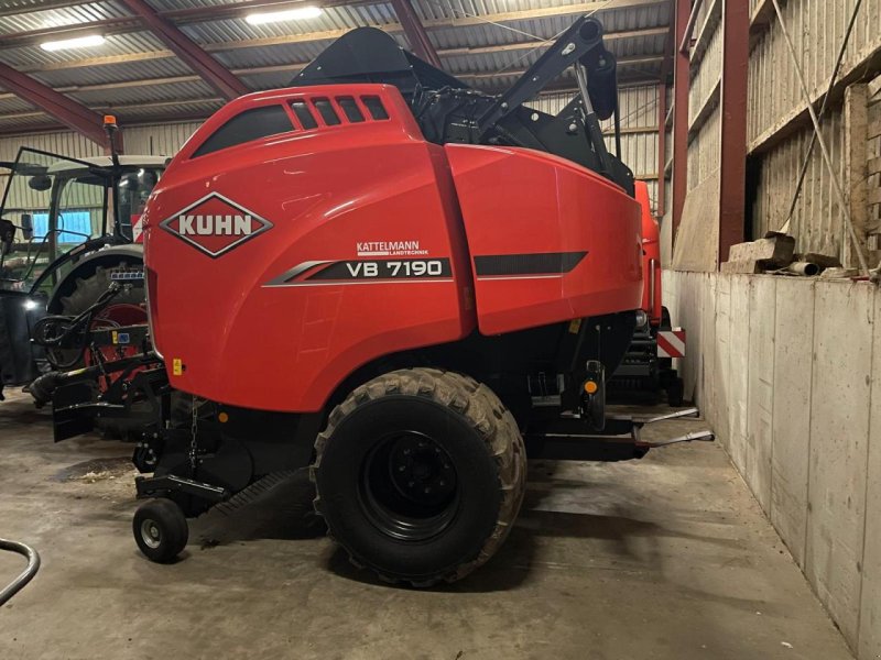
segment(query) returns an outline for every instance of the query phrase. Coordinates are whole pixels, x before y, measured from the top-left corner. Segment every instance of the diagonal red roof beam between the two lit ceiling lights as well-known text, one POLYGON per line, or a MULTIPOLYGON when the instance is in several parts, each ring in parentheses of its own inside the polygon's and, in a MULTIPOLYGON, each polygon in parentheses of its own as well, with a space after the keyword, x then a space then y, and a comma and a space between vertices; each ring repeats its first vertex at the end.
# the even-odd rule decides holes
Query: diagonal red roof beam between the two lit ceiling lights
POLYGON ((203 80, 228 100, 251 91, 224 65, 203 51, 193 40, 167 19, 159 15, 144 0, 121 0, 122 3, 183 59, 203 80))

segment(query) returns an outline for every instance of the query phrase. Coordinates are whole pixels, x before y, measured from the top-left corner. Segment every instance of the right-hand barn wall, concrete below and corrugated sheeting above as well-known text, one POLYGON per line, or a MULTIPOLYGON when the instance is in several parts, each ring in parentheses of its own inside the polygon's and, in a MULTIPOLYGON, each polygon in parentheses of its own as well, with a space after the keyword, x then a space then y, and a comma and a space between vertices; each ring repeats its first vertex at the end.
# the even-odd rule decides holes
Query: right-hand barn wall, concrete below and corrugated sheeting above
MULTIPOLYGON (((705 15, 711 16, 715 2, 704 4, 710 8, 705 15)), ((829 84, 856 0, 780 4, 816 101, 829 84)), ((760 238, 783 228, 790 216, 813 128, 773 3, 751 0, 750 8, 746 147, 753 168, 748 178, 753 183, 748 188, 748 231, 760 238)), ((858 79, 870 82, 881 70, 881 0, 864 0, 860 11, 841 65, 840 76, 848 85, 858 79)), ((714 112, 718 114, 701 100, 715 94, 703 75, 711 57, 711 47, 699 46, 698 37, 693 48, 689 121, 696 108, 706 106, 706 112, 697 110, 697 117, 706 118, 701 132, 711 127, 714 112)), ((852 152, 847 139, 852 133, 846 125, 845 87, 834 95, 823 134, 835 176, 849 193, 846 169, 852 152)), ((870 106, 878 100, 879 87, 877 81, 869 85, 870 106)), ((718 227, 715 200, 701 197, 701 185, 720 154, 707 151, 717 143, 703 140, 699 132, 690 138, 686 211, 697 206, 700 227, 713 231, 718 227)), ((871 161, 880 153, 875 139, 866 157, 871 161)), ((846 226, 833 182, 815 150, 787 229, 800 251, 847 261, 846 226)), ((683 233, 685 221, 684 217, 676 251, 684 244, 686 253, 694 254, 697 248, 683 233)), ((668 250, 670 245, 667 254, 668 250)), ((703 273, 686 270, 699 268, 671 270, 664 279, 665 305, 674 323, 688 332, 688 356, 681 364, 686 396, 700 407, 858 658, 877 659, 881 657, 881 292, 866 283, 725 275, 716 266, 703 273)))

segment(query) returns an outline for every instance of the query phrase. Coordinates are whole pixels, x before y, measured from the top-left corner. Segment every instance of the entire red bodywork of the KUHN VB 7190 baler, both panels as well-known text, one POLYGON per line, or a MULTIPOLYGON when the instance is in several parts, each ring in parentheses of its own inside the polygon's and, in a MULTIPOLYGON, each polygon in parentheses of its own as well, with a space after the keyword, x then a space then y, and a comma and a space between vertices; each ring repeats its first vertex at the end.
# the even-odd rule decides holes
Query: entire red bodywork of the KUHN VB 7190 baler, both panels
POLYGON ((178 389, 316 411, 358 367, 455 342, 478 318, 498 333, 637 309, 639 221, 632 199, 568 161, 427 143, 394 87, 258 92, 196 131, 148 204, 153 340, 178 389), (388 118, 371 118, 371 96, 388 118), (365 121, 344 114, 347 97, 365 121), (304 128, 292 100, 318 125, 304 128), (293 131, 194 157, 242 110, 273 105, 293 131), (472 275, 471 254, 556 252, 587 254, 553 278, 472 275))

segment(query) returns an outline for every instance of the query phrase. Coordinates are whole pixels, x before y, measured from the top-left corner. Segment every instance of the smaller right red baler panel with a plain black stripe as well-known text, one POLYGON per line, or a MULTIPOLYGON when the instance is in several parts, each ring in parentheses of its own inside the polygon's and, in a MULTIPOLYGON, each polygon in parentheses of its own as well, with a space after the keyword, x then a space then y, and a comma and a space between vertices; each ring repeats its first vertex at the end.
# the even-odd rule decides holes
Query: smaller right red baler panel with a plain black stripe
POLYGON ((483 334, 640 306, 640 207, 623 190, 540 152, 471 145, 446 151, 472 260, 586 253, 568 272, 565 266, 563 272, 485 275, 475 267, 483 334))

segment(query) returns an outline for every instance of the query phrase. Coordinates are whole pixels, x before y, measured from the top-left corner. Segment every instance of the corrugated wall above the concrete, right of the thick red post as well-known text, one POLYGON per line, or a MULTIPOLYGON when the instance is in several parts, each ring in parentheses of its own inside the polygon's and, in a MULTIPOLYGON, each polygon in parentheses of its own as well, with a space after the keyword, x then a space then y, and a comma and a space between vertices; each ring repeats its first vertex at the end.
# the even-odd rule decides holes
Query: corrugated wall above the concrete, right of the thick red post
MULTIPOLYGON (((818 99, 829 84, 856 1, 781 2, 813 100, 818 99)), ((750 7, 754 45, 750 54, 748 145, 755 156, 750 166, 758 169, 752 173, 758 187, 752 190, 751 230, 752 238, 760 238, 768 230, 780 229, 786 221, 813 129, 803 122, 794 133, 792 130, 805 101, 773 7, 768 12, 768 4, 759 0, 751 0, 750 7), (765 13, 759 16, 757 11, 762 8, 765 13), (784 132, 788 133, 786 138, 782 138, 784 132)), ((870 61, 879 48, 881 0, 864 0, 839 77, 855 70, 863 76, 871 75, 870 61)), ((844 180, 845 125, 840 101, 831 108, 823 127, 834 170, 839 180, 844 180)), ((814 151, 790 232, 800 251, 842 256, 844 217, 818 148, 814 151)))

